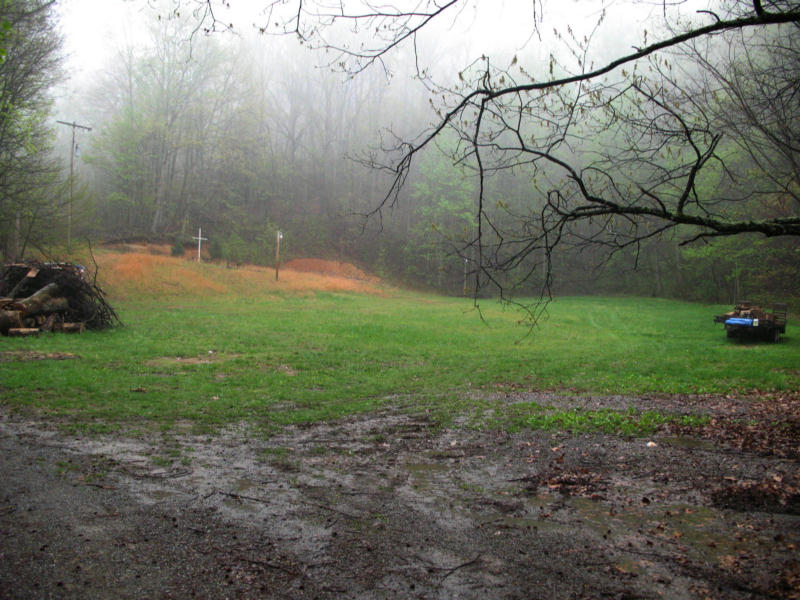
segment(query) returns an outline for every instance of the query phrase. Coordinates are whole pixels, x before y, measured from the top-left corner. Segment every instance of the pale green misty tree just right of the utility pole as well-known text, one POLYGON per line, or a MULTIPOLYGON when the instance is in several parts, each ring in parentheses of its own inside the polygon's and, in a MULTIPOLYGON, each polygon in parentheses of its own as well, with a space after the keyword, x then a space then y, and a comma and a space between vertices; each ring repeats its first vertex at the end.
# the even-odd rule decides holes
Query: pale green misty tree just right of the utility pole
POLYGON ((192 44, 189 31, 179 19, 162 20, 149 44, 118 51, 95 90, 103 122, 88 161, 101 174, 107 232, 175 234, 224 201, 213 192, 225 180, 211 170, 231 158, 220 140, 231 113, 246 107, 235 60, 212 40, 192 44))

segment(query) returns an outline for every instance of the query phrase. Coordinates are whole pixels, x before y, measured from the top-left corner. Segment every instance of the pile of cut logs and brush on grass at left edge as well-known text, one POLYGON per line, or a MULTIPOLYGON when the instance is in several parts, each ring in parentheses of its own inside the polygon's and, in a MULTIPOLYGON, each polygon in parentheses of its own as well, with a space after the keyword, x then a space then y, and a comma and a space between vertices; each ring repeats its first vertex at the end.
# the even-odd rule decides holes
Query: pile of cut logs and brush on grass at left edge
POLYGON ((71 263, 0 267, 0 334, 38 335, 104 329, 120 320, 86 269, 71 263))

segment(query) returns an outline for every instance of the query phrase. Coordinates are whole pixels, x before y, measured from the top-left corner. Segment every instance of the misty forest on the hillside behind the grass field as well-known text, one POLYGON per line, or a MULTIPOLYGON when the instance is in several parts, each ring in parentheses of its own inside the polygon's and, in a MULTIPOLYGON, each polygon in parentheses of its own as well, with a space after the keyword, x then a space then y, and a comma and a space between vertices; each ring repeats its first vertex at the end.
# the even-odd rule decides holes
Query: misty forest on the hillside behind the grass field
MULTIPOLYGON (((170 13, 148 23, 145 40, 120 43, 101 72, 74 84, 70 98, 77 103, 54 110, 49 90, 63 71, 52 3, 3 6, 4 261, 64 254, 68 240, 148 239, 179 249, 202 228, 213 258, 270 265, 280 230, 286 258, 346 260, 446 294, 472 294, 479 286, 479 293, 502 288, 517 296, 542 290, 720 302, 800 296, 797 235, 696 235, 691 223, 664 228, 645 216, 632 236, 625 229, 629 216, 598 214, 564 219, 572 228, 557 245, 528 243, 536 227, 555 231, 545 220, 553 214, 547 210, 554 190, 560 196, 603 178, 613 179, 613 186, 602 184, 605 192, 658 195, 663 206, 664 194, 680 196, 678 177, 689 177, 694 216, 797 220, 796 22, 752 34, 736 30, 702 49, 672 48, 647 57, 639 67, 644 74, 630 81, 618 69, 624 75, 602 89, 558 90, 536 98, 538 104, 507 102, 492 109, 501 127, 487 134, 484 161, 476 164, 478 138, 464 118, 414 146, 441 122, 452 97, 464 97, 460 82, 490 74, 463 69, 468 49, 444 52, 420 40, 352 74, 294 38, 206 35, 198 33, 193 13, 170 13), (437 89, 419 73, 403 78, 421 54, 458 78, 437 89), (759 100, 781 94, 786 106, 759 100), (559 121, 565 111, 569 130, 559 121), (509 124, 515 114, 535 115, 536 123, 509 124), (69 122, 57 118, 83 127, 64 127, 69 122), (525 154, 523 136, 553 136, 548 160, 577 165, 582 178, 564 181, 543 171, 525 154), (398 187, 392 165, 409 147, 414 163, 398 187), (686 162, 693 151, 702 160, 686 162)), ((789 3, 786 10, 797 9, 789 3)), ((511 64, 520 77, 540 62, 535 52, 520 52, 511 64)), ((556 77, 570 72, 552 56, 541 67, 548 68, 556 77)))

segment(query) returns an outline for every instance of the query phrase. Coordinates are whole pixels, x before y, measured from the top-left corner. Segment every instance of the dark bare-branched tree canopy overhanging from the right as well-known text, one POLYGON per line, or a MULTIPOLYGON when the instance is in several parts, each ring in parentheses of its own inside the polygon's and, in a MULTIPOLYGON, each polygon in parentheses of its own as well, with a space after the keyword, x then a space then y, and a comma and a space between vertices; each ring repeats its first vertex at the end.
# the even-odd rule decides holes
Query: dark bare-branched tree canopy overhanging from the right
MULTIPOLYGON (((689 17, 675 10, 685 1, 629 4, 661 14, 632 50, 598 57, 593 36, 567 26, 567 58, 551 55, 544 72, 521 53, 504 66, 484 55, 455 85, 420 66, 418 41, 474 0, 276 0, 260 29, 324 48, 351 74, 413 49, 440 119, 369 161, 392 176, 376 212, 398 202, 421 151, 455 133, 452 158, 479 185, 477 227, 454 241, 480 285, 502 290, 497 275, 514 273, 549 293, 557 248, 608 257, 656 237, 800 235, 800 3, 719 0, 689 17), (493 185, 500 172, 525 174, 524 198, 493 185)), ((212 0, 193 6, 208 30, 226 26, 212 0)), ((529 6, 535 36, 553 7, 529 6)), ((604 27, 602 11, 595 33, 604 27)))

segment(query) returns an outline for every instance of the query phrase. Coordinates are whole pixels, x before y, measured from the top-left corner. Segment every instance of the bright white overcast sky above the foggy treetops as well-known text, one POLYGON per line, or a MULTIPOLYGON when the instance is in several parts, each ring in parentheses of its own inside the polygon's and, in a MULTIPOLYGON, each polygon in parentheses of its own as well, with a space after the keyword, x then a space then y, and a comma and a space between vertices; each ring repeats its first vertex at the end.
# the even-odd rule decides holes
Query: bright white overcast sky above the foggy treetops
MULTIPOLYGON (((215 3, 220 1, 215 0, 215 3)), ((228 1, 233 11, 218 8, 216 16, 226 22, 233 21, 237 31, 250 32, 254 22, 264 23, 261 11, 268 0, 228 1)), ((410 5, 418 0, 398 0, 398 3, 402 6, 405 1, 410 5)), ((679 7, 684 14, 693 14, 696 9, 706 8, 709 2, 714 1, 682 0, 679 7)), ((182 3, 184 12, 198 6, 195 0, 58 0, 69 81, 57 93, 58 106, 63 109, 57 112, 80 116, 83 101, 76 90, 87 89, 97 72, 111 64, 117 49, 131 43, 147 43, 148 26, 159 14, 154 6, 166 7, 161 9, 161 14, 165 14, 177 2, 182 3)), ((654 21, 661 17, 663 9, 659 0, 543 0, 543 12, 538 15, 539 37, 532 33, 533 2, 477 0, 466 2, 461 12, 443 15, 432 23, 433 27, 424 30, 419 40, 423 56, 427 50, 428 56, 432 57, 431 65, 421 66, 432 66, 435 79, 452 85, 456 83, 457 70, 481 54, 490 55, 494 66, 503 68, 519 53, 526 70, 541 79, 547 76, 545 69, 550 53, 563 48, 555 43, 553 29, 566 35, 569 24, 582 37, 591 32, 600 11, 606 7, 606 21, 592 41, 594 66, 597 67, 607 62, 612 52, 618 56, 630 52, 634 45, 641 45, 642 31, 646 28, 650 31, 648 41, 652 42, 654 21), (538 64, 530 64, 532 60, 538 64)), ((538 10, 538 0, 536 2, 538 10)), ((286 6, 295 7, 296 4, 289 2, 286 6)), ((348 34, 345 32, 343 35, 348 34)), ((293 43, 291 39, 283 41, 293 43)), ((265 40, 265 52, 269 51, 268 43, 269 40, 265 40)), ((320 61, 323 60, 320 56, 320 61)), ((569 64, 572 69, 577 68, 574 61, 569 64)), ((410 66, 408 74, 413 74, 410 66)), ((64 114, 57 118, 73 119, 64 114)))

